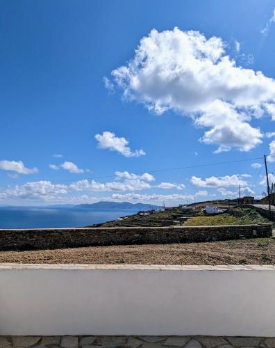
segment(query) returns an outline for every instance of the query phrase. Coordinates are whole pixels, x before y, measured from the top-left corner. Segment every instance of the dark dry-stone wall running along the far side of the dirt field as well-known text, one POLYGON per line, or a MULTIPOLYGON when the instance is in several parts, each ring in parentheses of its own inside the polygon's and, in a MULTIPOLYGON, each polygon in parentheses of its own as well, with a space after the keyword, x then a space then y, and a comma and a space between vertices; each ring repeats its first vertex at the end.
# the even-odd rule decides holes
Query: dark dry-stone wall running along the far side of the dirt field
POLYGON ((64 228, 0 230, 0 251, 210 242, 226 239, 271 237, 272 223, 235 226, 169 226, 131 228, 64 228))

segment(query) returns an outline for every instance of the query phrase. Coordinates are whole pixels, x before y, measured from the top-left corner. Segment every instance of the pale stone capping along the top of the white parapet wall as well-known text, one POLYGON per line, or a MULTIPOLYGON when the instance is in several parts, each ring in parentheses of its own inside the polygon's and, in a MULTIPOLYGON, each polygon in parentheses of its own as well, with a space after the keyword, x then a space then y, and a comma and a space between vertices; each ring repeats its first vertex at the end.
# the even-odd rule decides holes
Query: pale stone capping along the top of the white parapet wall
POLYGON ((0 271, 8 269, 62 269, 62 270, 154 270, 154 271, 275 271, 275 265, 161 265, 161 264, 19 264, 0 263, 0 271))

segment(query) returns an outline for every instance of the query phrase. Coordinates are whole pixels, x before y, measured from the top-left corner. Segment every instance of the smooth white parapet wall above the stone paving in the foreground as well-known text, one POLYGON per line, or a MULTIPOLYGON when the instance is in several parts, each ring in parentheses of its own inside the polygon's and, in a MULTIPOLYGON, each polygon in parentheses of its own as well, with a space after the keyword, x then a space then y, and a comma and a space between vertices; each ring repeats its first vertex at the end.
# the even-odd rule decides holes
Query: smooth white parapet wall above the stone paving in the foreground
POLYGON ((0 335, 274 336, 275 267, 0 264, 0 335))

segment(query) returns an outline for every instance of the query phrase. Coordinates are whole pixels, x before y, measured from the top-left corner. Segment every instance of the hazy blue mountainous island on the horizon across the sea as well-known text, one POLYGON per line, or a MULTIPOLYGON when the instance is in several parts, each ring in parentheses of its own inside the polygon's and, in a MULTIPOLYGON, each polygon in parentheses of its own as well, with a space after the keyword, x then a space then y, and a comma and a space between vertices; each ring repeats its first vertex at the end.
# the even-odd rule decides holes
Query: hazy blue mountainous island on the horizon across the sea
POLYGON ((144 203, 130 203, 130 202, 97 202, 92 204, 78 204, 77 208, 83 209, 137 209, 137 210, 149 210, 156 209, 158 205, 150 205, 144 203))

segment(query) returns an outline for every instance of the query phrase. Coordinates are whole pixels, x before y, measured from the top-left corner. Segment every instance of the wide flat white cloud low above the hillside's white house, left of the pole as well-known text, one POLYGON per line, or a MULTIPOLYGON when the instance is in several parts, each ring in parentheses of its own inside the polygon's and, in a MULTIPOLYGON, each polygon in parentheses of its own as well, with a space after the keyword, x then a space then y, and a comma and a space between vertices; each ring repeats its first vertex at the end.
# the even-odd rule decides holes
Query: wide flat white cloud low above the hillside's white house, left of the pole
POLYGON ((247 182, 240 179, 238 175, 225 175, 222 177, 207 177, 205 180, 200 177, 196 177, 193 175, 190 179, 193 185, 198 187, 236 187, 239 186, 247 186, 247 182))

